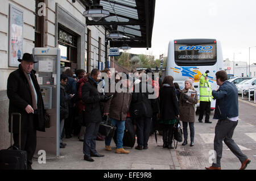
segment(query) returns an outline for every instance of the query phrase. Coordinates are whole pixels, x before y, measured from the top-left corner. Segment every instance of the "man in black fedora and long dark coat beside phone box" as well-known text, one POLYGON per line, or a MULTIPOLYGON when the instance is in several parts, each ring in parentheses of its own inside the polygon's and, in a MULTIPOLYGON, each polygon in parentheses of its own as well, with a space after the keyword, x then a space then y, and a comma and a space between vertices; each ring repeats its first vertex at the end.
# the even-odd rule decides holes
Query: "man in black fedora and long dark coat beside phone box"
MULTIPOLYGON (((19 68, 13 71, 7 80, 9 104, 9 132, 11 113, 21 114, 20 149, 27 151, 27 169, 32 169, 32 156, 36 149, 36 131, 45 132, 43 98, 35 76, 32 54, 24 53, 19 68)), ((13 118, 14 145, 18 147, 19 121, 13 118)))

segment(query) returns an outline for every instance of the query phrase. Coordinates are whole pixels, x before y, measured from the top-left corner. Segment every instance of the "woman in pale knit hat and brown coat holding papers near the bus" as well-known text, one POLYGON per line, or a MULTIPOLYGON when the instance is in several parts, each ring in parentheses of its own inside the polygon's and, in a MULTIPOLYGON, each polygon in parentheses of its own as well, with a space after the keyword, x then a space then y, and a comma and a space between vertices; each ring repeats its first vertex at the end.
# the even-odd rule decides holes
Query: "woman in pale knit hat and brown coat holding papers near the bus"
POLYGON ((196 121, 196 108, 195 104, 197 104, 197 91, 192 86, 193 79, 186 79, 185 80, 185 87, 180 92, 180 101, 179 101, 179 108, 180 108, 180 120, 182 121, 183 125, 183 133, 184 133, 184 142, 183 146, 188 144, 188 124, 190 130, 190 139, 191 144, 190 146, 194 146, 194 137, 195 137, 195 127, 194 123, 196 121), (193 91, 193 94, 189 95, 190 90, 193 91))

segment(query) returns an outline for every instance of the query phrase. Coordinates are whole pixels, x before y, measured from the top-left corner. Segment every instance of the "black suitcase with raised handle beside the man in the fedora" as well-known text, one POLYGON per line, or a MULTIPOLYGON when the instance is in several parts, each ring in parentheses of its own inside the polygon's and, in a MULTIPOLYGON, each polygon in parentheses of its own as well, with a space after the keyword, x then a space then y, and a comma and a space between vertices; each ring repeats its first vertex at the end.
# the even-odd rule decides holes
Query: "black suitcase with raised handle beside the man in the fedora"
POLYGON ((27 151, 20 150, 21 134, 21 115, 20 113, 11 114, 11 146, 8 149, 0 150, 0 170, 26 170, 27 151), (13 145, 13 116, 19 116, 19 148, 13 145))

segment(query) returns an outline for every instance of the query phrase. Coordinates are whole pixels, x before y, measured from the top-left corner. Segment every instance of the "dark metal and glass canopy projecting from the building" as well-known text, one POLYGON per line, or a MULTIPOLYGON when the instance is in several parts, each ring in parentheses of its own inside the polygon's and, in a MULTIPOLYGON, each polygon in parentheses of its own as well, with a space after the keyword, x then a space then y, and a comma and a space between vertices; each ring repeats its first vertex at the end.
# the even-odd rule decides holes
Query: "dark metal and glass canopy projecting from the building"
POLYGON ((117 30, 127 38, 110 40, 111 47, 128 44, 131 48, 151 48, 155 16, 155 0, 82 0, 89 9, 93 3, 103 6, 110 16, 98 22, 86 18, 87 26, 104 26, 106 31, 117 30))

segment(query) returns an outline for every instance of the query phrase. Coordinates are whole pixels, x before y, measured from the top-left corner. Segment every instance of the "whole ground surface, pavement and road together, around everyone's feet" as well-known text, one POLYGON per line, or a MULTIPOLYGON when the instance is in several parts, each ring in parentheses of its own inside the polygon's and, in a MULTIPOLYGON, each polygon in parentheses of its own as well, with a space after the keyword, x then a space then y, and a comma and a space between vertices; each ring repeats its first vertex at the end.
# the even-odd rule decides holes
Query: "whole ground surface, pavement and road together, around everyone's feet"
MULTIPOLYGON (((246 154, 251 163, 247 169, 256 169, 256 111, 255 107, 245 102, 239 102, 240 119, 235 129, 233 139, 246 154)), ((103 158, 93 158, 94 162, 87 162, 83 159, 82 142, 77 137, 64 139, 66 148, 60 149, 60 157, 47 159, 46 163, 39 164, 34 159, 32 168, 35 170, 204 170, 210 166, 209 159, 212 157, 214 128, 217 120, 213 120, 211 112, 210 121, 212 124, 199 123, 196 115, 195 123, 195 146, 181 146, 178 143, 177 149, 163 149, 162 136, 158 134, 158 143, 155 136, 150 136, 147 150, 136 150, 125 148, 130 154, 115 154, 115 144, 112 141, 112 151, 105 150, 105 141, 96 141, 96 149, 103 158)), ((189 128, 188 128, 189 130, 189 128)), ((189 138, 189 137, 188 137, 189 138)), ((137 143, 135 143, 135 146, 137 143)), ((238 158, 223 144, 221 167, 224 170, 238 170, 241 163, 238 158)))

